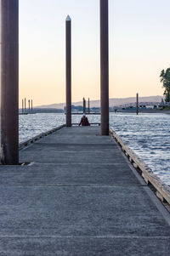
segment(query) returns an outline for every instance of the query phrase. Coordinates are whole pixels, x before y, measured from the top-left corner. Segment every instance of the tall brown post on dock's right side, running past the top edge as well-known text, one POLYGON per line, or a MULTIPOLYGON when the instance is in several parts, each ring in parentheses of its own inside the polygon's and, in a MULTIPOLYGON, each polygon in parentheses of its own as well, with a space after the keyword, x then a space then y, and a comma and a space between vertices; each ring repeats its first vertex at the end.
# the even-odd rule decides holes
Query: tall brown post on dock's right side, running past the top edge
POLYGON ((100 0, 101 135, 109 135, 109 20, 108 0, 100 0))

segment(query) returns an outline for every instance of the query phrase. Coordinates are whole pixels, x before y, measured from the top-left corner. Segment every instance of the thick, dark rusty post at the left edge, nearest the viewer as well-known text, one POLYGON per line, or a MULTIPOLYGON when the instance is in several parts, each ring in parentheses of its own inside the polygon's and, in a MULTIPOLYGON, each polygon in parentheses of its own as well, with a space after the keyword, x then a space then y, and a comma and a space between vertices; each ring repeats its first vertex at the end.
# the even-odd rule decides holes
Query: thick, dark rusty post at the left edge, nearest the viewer
POLYGON ((1 0, 2 162, 19 163, 19 0, 1 0))

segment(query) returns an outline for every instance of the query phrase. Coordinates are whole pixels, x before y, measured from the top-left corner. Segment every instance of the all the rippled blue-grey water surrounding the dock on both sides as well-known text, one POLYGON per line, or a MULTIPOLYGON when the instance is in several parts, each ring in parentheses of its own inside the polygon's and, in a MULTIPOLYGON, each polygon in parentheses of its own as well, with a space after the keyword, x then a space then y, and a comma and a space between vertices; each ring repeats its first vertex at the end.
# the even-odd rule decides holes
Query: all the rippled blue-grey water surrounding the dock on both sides
MULTIPOLYGON (((79 122, 81 116, 73 116, 79 122)), ((99 116, 89 116, 89 122, 99 122, 99 116)), ((65 123, 64 114, 20 116, 20 142, 65 123)), ((115 114, 110 115, 113 128, 124 142, 170 185, 170 115, 115 114)))

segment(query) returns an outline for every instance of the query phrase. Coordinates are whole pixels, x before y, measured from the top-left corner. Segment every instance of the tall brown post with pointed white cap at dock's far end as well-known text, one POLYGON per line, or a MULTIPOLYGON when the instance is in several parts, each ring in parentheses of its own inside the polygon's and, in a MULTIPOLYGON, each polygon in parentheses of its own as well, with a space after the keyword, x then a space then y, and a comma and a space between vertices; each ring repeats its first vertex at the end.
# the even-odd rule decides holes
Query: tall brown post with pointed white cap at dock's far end
POLYGON ((65 22, 66 29, 66 126, 71 127, 71 17, 65 22))

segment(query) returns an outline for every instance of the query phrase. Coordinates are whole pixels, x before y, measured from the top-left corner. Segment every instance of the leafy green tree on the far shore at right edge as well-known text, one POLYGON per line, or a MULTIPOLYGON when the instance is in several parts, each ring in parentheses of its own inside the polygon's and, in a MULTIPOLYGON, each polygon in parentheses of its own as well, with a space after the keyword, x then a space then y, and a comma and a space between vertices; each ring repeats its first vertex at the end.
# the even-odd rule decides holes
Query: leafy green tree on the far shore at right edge
POLYGON ((170 68, 167 68, 167 71, 162 70, 160 77, 161 82, 163 83, 163 88, 165 88, 165 101, 170 102, 170 68))

